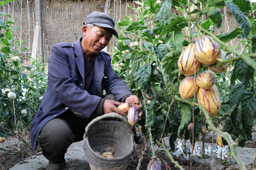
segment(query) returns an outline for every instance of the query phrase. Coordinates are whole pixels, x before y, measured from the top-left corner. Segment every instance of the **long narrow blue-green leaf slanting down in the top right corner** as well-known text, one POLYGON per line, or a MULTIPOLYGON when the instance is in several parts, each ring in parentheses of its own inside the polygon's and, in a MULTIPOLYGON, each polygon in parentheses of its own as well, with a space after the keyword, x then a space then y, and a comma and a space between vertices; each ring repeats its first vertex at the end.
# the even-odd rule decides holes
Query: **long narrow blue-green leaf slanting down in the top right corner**
POLYGON ((236 22, 243 29, 243 33, 247 39, 249 39, 250 33, 250 23, 244 14, 239 10, 239 8, 233 2, 225 2, 226 6, 230 8, 236 22))

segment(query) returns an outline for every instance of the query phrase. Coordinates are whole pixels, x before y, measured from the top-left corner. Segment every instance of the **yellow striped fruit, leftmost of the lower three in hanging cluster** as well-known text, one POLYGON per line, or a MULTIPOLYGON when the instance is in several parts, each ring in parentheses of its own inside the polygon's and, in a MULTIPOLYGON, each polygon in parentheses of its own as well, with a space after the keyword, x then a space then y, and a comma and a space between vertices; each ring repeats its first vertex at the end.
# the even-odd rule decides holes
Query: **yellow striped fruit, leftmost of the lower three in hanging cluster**
POLYGON ((198 85, 195 82, 194 77, 188 76, 184 78, 180 84, 179 92, 182 99, 188 99, 194 96, 194 92, 197 91, 198 85))

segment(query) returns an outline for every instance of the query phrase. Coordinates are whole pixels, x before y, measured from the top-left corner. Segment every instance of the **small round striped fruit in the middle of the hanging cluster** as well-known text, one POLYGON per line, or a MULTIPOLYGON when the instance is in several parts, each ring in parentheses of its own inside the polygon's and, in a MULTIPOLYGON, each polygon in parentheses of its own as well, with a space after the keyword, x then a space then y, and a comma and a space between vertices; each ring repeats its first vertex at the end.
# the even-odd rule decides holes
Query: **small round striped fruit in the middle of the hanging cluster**
POLYGON ((195 82, 197 83, 198 87, 202 89, 209 89, 215 83, 215 76, 209 71, 200 72, 196 76, 195 82))

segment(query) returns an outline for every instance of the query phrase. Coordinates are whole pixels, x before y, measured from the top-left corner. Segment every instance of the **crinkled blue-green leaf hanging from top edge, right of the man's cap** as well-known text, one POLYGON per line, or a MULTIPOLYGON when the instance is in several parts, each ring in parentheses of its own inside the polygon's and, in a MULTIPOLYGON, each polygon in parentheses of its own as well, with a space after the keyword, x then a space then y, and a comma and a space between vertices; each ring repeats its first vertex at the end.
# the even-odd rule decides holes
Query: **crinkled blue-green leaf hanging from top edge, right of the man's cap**
POLYGON ((170 23, 171 20, 171 8, 172 1, 165 0, 160 8, 159 13, 157 13, 156 18, 162 23, 162 25, 166 25, 170 23))

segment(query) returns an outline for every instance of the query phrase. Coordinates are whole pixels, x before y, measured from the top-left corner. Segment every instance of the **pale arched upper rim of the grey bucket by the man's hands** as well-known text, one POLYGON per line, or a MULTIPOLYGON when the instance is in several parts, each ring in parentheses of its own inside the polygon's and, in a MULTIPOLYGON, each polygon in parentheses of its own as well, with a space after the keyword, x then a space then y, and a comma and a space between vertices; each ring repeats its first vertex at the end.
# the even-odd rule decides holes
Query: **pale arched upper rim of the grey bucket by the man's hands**
POLYGON ((84 137, 86 138, 87 136, 87 132, 88 130, 90 129, 90 127, 92 127, 96 122, 98 122, 99 120, 102 120, 104 118, 119 118, 121 119, 121 121, 128 127, 128 129, 130 130, 131 134, 133 134, 133 129, 132 129, 132 126, 128 123, 128 120, 126 118, 124 118, 123 116, 121 116, 120 114, 118 113, 115 113, 115 112, 111 112, 111 113, 107 113, 107 114, 104 114, 102 116, 99 116, 97 118, 94 118, 85 128, 85 134, 84 134, 84 137))

